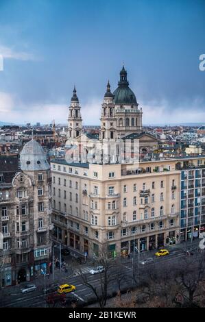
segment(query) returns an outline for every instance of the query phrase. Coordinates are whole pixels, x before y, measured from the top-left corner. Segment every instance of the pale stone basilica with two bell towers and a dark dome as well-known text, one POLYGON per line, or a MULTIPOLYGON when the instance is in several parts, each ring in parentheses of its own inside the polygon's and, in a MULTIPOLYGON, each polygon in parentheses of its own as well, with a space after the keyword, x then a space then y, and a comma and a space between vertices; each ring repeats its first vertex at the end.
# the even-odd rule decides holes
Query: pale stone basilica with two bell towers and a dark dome
POLYGON ((87 152, 93 151, 95 142, 110 143, 114 140, 138 140, 141 156, 154 151, 158 147, 158 140, 143 131, 142 108, 134 92, 129 87, 127 71, 120 71, 118 87, 114 92, 110 90, 108 81, 103 103, 101 104, 101 126, 99 135, 82 133, 82 114, 74 87, 71 105, 69 107, 67 145, 71 149, 76 145, 86 145, 87 152))

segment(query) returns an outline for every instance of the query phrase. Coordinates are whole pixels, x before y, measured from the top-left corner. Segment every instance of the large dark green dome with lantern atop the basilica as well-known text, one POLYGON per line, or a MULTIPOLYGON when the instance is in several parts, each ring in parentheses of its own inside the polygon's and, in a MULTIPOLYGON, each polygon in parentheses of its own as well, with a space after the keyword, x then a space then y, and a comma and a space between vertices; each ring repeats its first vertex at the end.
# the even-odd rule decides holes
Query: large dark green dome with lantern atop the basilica
POLYGON ((118 88, 113 92, 114 103, 116 104, 137 104, 134 92, 129 87, 127 81, 127 72, 124 69, 120 72, 120 81, 118 82, 118 88))

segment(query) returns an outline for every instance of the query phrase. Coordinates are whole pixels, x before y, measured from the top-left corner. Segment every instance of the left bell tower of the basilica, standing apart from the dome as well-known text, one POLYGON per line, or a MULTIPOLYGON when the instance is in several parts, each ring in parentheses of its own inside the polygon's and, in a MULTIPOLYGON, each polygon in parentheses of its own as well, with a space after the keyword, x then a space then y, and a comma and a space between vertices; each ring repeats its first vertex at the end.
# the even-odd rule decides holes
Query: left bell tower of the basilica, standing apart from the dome
POLYGON ((82 117, 80 109, 79 100, 77 98, 76 89, 74 86, 73 96, 71 97, 71 105, 69 107, 67 138, 77 138, 77 136, 80 136, 82 133, 82 117))

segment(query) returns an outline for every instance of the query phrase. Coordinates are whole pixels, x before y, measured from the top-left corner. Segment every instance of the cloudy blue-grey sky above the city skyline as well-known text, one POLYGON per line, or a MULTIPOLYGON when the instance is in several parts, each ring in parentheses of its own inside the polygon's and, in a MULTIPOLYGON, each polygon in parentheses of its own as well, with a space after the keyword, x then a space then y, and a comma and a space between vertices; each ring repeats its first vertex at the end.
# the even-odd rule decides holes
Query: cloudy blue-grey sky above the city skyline
POLYGON ((0 121, 98 125, 123 62, 143 123, 205 123, 204 0, 0 0, 0 121))

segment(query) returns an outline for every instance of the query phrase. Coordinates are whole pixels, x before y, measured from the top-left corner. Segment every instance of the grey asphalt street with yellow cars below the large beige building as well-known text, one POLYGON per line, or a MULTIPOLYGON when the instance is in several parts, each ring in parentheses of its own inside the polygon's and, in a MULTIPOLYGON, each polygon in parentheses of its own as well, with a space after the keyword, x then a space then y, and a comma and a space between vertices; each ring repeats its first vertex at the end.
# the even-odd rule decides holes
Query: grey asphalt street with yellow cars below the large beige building
MULTIPOLYGON (((196 247, 197 244, 193 244, 191 246, 196 247)), ((189 247, 191 248, 191 247, 189 247)), ((156 258, 154 256, 154 253, 147 252, 142 253, 141 258, 153 258, 152 264, 156 265, 162 265, 165 262, 180 262, 180 259, 184 258, 184 249, 183 247, 178 247, 175 249, 172 249, 169 252, 168 256, 164 256, 162 258, 156 258)), ((197 256, 197 253, 195 253, 195 256, 197 256)), ((120 272, 124 276, 123 280, 121 281, 121 289, 128 289, 132 287, 132 273, 133 269, 136 269, 138 263, 138 255, 134 257, 134 263, 132 262, 132 259, 128 258, 122 258, 121 259, 121 268, 120 272)), ((139 274, 141 274, 143 271, 149 267, 150 264, 142 265, 140 264, 140 271, 139 274)), ((87 281, 91 283, 93 286, 99 286, 101 282, 101 275, 91 275, 88 272, 90 271, 92 267, 84 267, 82 269, 82 273, 86 275, 87 281)), ((58 273, 56 272, 56 277, 58 277, 58 273)), ((112 295, 114 292, 117 292, 117 275, 119 274, 119 271, 116 270, 116 268, 112 267, 110 269, 109 273, 110 279, 113 281, 112 283, 108 284, 108 294, 112 295)), ((43 282, 43 277, 41 278, 41 282, 43 282)), ((49 279, 46 281, 47 285, 51 284, 52 276, 49 277, 49 279)), ((55 279, 56 282, 56 279, 55 279)), ((62 280, 58 280, 60 284, 73 284, 76 287, 76 290, 74 292, 71 292, 69 294, 72 294, 73 296, 77 297, 78 305, 79 306, 86 306, 86 304, 90 303, 92 299, 95 299, 95 295, 93 295, 93 291, 91 288, 88 288, 88 286, 84 285, 82 281, 82 276, 80 275, 80 271, 77 271, 77 269, 73 272, 73 275, 65 275, 62 280)), ((28 283, 29 284, 29 283, 28 283)), ((37 286, 37 290, 32 293, 27 293, 23 295, 21 293, 22 286, 13 286, 10 288, 10 292, 8 292, 8 288, 1 290, 1 307, 45 307, 48 306, 45 304, 45 295, 43 292, 43 284, 37 285, 36 282, 34 282, 37 286), (6 291, 5 291, 6 290, 6 291)), ((67 296, 69 296, 69 294, 67 296)), ((48 293, 47 293, 48 295, 48 293)))

